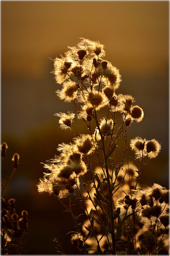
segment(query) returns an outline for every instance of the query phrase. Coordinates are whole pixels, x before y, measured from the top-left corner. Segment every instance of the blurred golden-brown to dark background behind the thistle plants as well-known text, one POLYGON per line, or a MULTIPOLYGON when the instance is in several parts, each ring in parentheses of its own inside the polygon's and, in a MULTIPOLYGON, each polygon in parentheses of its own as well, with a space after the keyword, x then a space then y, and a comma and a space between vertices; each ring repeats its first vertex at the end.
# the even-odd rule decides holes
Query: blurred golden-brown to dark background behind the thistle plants
MULTIPOLYGON (((76 253, 65 236, 75 230, 69 213, 54 195, 39 194, 36 184, 43 177, 41 162, 72 139, 54 116, 75 110, 56 96, 61 85, 51 73, 51 59, 64 55, 79 37, 105 45, 105 59, 122 75, 116 92, 132 95, 144 110, 144 119, 131 125, 128 142, 140 136, 161 143, 158 157, 143 168, 141 183, 168 187, 168 11, 168 1, 1 1, 1 142, 9 146, 1 175, 4 182, 17 152, 19 167, 4 198, 16 199, 18 213, 29 213, 27 254, 56 254, 54 237, 65 254, 76 253)), ((86 132, 83 123, 78 126, 86 132)))

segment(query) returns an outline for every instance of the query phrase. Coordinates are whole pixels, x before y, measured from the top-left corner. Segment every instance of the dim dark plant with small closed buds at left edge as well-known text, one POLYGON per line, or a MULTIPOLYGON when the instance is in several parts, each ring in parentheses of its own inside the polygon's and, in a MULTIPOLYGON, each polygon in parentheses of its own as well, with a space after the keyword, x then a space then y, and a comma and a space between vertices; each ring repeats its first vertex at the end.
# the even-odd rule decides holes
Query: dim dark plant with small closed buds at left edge
MULTIPOLYGON (((1 159, 3 161, 8 146, 5 142, 1 145, 1 159)), ((1 192, 1 254, 24 254, 25 242, 28 230, 28 213, 22 211, 17 214, 15 199, 10 198, 8 202, 3 198, 4 190, 12 179, 19 164, 19 155, 15 153, 12 157, 13 171, 6 177, 6 182, 2 184, 1 192)))

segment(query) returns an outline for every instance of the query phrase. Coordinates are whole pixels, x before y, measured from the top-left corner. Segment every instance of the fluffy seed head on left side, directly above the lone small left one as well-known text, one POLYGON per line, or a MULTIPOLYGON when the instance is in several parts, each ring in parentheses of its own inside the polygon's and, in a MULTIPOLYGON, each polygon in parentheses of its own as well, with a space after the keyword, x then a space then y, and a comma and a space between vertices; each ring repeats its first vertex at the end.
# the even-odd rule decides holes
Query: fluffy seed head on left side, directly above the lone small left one
POLYGON ((60 91, 56 91, 57 95, 60 99, 64 99, 66 102, 71 102, 71 100, 75 99, 77 96, 77 90, 80 86, 73 82, 68 81, 63 84, 63 89, 60 91))

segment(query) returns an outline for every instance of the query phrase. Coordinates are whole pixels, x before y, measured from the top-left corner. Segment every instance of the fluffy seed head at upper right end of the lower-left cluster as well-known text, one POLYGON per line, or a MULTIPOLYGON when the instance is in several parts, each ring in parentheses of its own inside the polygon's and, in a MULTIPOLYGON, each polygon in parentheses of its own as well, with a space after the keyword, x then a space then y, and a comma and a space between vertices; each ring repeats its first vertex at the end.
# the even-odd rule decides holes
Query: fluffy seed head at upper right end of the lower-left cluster
POLYGON ((75 150, 79 154, 89 155, 94 150, 94 141, 90 135, 82 135, 80 138, 75 138, 75 150))

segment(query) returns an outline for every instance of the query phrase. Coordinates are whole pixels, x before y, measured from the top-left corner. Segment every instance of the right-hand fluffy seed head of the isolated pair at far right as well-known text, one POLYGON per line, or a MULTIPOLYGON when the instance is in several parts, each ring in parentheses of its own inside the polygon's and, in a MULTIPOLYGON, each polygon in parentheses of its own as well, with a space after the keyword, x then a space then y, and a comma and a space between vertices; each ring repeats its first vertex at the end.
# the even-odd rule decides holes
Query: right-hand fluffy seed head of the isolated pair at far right
POLYGON ((155 139, 146 141, 146 152, 148 153, 149 158, 155 158, 160 152, 160 149, 161 146, 155 139))

